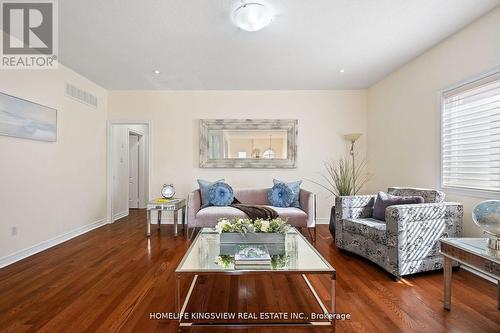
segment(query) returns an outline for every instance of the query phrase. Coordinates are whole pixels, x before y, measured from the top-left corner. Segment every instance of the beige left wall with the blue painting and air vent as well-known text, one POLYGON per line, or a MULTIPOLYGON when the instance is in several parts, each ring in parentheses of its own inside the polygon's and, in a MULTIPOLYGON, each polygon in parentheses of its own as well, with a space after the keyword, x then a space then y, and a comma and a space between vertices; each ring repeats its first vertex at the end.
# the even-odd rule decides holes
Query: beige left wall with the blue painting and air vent
POLYGON ((2 70, 0 91, 57 109, 57 142, 0 135, 1 264, 106 218, 107 92, 62 65, 2 70), (66 97, 65 82, 97 95, 99 108, 66 97))

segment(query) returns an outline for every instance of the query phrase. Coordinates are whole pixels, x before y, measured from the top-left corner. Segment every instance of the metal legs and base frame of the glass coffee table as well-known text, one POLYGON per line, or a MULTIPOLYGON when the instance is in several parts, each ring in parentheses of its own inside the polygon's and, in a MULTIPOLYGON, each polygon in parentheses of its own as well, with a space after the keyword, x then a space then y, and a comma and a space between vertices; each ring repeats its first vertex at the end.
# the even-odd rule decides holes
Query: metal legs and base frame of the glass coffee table
MULTIPOLYGON (((266 272, 259 273, 258 271, 242 271, 241 275, 258 275, 258 274, 265 274, 266 272)), ((280 273, 273 273, 273 274, 280 274, 280 273)), ((302 275, 302 278, 304 279, 307 287, 311 291, 312 295, 316 299, 316 302, 318 305, 321 307, 321 310, 323 313, 330 313, 332 316, 335 315, 335 281, 336 281, 336 275, 335 273, 328 273, 330 275, 330 281, 331 281, 331 304, 330 304, 330 312, 328 312, 328 309, 324 305, 324 303, 321 301, 318 293, 314 289, 313 285, 307 278, 306 274, 303 272, 283 272, 281 274, 300 274, 302 275)), ((321 272, 311 272, 308 274, 325 274, 321 272)), ((330 332, 335 332, 335 320, 333 317, 331 317, 330 320, 328 321, 303 321, 303 322, 258 322, 258 323, 242 323, 242 322, 223 322, 223 323, 195 323, 195 322, 183 322, 183 314, 186 311, 186 307, 189 304, 189 300, 191 298, 191 294, 193 293, 193 290, 196 286, 196 282, 198 281, 198 276, 201 274, 195 274, 193 280, 191 281, 191 285, 189 286, 188 293, 186 295, 186 298, 182 302, 181 300, 181 276, 182 275, 187 275, 187 274, 176 274, 176 310, 177 313, 179 314, 179 319, 177 321, 177 331, 181 332, 182 328, 194 328, 194 327, 204 327, 204 328, 258 328, 258 327, 265 327, 265 328, 283 328, 283 327, 317 327, 317 328, 325 328, 325 326, 330 327, 330 332)), ((192 274, 191 274, 192 275, 192 274)), ((214 273, 206 273, 204 275, 217 275, 214 273)))

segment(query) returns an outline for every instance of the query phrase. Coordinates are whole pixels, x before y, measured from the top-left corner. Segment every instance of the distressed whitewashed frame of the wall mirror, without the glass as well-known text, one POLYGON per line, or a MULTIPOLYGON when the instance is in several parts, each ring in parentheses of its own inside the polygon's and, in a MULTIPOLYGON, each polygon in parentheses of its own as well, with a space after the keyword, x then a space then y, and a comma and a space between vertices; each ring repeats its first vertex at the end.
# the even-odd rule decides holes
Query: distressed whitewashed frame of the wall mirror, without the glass
POLYGON ((297 127, 296 119, 200 119, 200 168, 296 168, 297 127), (286 130, 287 159, 209 159, 210 130, 286 130))

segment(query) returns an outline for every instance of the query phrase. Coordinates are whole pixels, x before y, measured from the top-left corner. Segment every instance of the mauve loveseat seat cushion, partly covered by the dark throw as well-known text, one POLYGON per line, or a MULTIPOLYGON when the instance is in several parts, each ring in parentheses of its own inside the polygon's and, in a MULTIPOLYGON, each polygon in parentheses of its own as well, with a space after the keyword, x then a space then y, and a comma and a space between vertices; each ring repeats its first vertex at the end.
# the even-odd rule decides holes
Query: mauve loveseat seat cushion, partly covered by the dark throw
MULTIPOLYGON (((279 217, 287 219, 288 223, 294 227, 307 226, 307 214, 302 209, 295 207, 266 207, 274 209, 279 217)), ((248 218, 241 210, 231 206, 209 206, 200 209, 196 213, 196 226, 214 227, 217 224, 217 220, 221 217, 248 218)))

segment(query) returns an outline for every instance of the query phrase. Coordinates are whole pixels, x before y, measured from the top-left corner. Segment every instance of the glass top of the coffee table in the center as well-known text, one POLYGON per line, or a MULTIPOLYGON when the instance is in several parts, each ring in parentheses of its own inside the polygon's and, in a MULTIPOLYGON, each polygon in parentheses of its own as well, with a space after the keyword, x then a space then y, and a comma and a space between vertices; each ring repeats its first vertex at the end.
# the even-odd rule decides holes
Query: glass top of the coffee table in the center
MULTIPOLYGON (((238 244, 221 244, 220 235, 203 228, 184 255, 177 273, 303 272, 333 273, 335 269, 295 228, 286 234, 283 244, 266 244, 271 263, 264 267, 238 267, 234 263, 238 244)), ((241 245, 240 245, 241 246, 241 245)))

